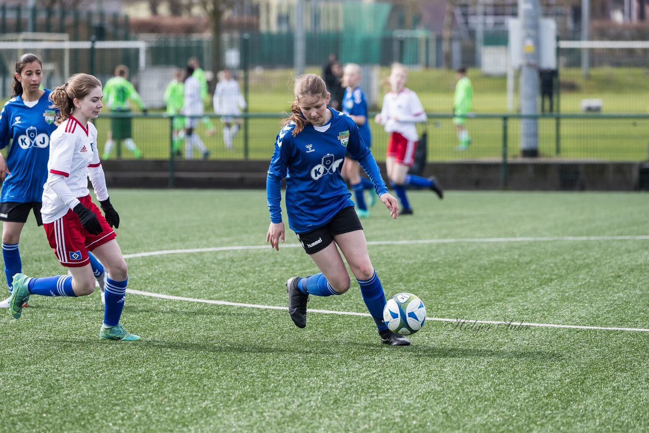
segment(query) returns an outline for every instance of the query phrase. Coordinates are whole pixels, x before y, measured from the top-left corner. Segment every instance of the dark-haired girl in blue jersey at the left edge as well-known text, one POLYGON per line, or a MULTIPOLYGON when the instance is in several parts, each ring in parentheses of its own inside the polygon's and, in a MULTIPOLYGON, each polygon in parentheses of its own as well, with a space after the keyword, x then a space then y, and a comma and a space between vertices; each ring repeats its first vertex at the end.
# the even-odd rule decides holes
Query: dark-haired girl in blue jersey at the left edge
MULTIPOLYGON (((9 291, 14 275, 22 272, 18 246, 29 212, 34 213, 37 225, 43 225, 43 184, 47 179, 49 136, 56 130, 56 111, 50 107, 51 91, 40 89, 42 66, 36 54, 20 56, 14 73, 14 96, 0 113, 0 149, 11 144, 6 160, 0 154, 0 177, 4 180, 0 192, 2 253, 9 291)), ((94 257, 91 261, 103 290, 103 266, 94 257)), ((8 306, 8 298, 0 302, 0 308, 8 306)))

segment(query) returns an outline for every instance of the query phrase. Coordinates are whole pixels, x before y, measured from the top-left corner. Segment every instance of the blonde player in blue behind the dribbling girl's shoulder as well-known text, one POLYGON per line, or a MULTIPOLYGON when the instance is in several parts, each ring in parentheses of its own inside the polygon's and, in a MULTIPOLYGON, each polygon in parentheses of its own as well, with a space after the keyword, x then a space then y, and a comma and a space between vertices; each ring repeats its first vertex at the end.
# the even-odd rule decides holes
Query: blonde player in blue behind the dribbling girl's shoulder
MULTIPOLYGON (((361 67, 355 63, 345 65, 343 71, 343 86, 345 86, 345 95, 343 96, 343 109, 342 112, 347 114, 350 118, 354 119, 358 125, 363 142, 368 148, 372 147, 372 132, 369 130, 369 123, 367 121, 367 99, 365 93, 358 84, 361 81, 361 67)), ((345 164, 343 164, 343 178, 347 179, 349 186, 354 192, 354 201, 356 201, 356 214, 361 218, 369 217, 369 210, 365 204, 364 192, 365 190, 373 190, 374 185, 371 180, 361 177, 360 167, 358 162, 349 156, 345 156, 345 164)), ((376 195, 374 192, 369 196, 370 206, 376 203, 376 195)))

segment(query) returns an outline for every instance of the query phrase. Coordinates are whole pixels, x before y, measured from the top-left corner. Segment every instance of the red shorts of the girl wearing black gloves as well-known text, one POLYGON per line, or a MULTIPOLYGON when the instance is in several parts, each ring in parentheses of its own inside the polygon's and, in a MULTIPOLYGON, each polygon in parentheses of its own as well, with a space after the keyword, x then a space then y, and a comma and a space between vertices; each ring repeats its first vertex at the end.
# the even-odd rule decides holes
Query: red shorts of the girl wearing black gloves
POLYGON ((106 223, 106 218, 101 214, 97 205, 92 203, 90 195, 81 197, 79 201, 95 213, 101 224, 101 233, 97 235, 88 233, 81 225, 77 214, 71 209, 53 223, 43 224, 49 246, 54 249, 58 261, 66 267, 86 266, 90 263, 88 251, 117 238, 117 234, 106 223))

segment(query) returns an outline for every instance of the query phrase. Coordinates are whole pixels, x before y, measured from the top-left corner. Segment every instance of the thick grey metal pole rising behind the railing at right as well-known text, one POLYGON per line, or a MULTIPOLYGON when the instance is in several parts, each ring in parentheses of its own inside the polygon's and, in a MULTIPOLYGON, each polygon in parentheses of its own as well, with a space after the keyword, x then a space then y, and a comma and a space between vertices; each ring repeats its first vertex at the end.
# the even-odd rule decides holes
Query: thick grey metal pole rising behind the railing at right
MULTIPOLYGON (((539 0, 519 0, 523 55, 520 68, 520 114, 538 114, 539 0)), ((520 119, 520 155, 539 156, 539 119, 520 119)))

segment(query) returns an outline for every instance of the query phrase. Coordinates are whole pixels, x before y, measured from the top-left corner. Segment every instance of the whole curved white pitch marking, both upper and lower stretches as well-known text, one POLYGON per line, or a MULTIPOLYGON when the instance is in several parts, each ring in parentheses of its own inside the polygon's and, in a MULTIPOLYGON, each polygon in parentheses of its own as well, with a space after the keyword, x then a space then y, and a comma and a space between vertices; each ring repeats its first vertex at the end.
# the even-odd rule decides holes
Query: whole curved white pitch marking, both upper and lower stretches
MULTIPOLYGON (((428 239, 428 240, 402 240, 402 241, 369 241, 368 245, 415 245, 425 243, 480 243, 480 242, 537 242, 537 241, 617 241, 617 240, 649 240, 649 236, 546 236, 546 237, 526 237, 526 238, 465 238, 465 239, 428 239)), ((301 247, 299 243, 288 243, 282 245, 283 248, 297 248, 301 247)), ((174 249, 164 251, 149 251, 146 253, 125 254, 124 258, 136 257, 149 257, 160 256, 164 254, 186 254, 186 253, 209 253, 214 251, 241 251, 241 250, 254 250, 254 249, 267 249, 269 245, 243 245, 231 247, 213 247, 213 248, 193 248, 193 249, 174 249)), ((152 293, 149 291, 127 289, 129 293, 134 295, 143 295, 156 297, 161 299, 171 299, 173 301, 186 301, 204 304, 227 305, 227 306, 241 306, 246 308, 262 308, 265 310, 288 310, 284 306, 260 305, 260 304, 243 304, 232 303, 228 301, 213 301, 211 299, 197 299, 187 298, 173 295, 162 295, 160 293, 152 293)), ((341 312, 331 310, 309 310, 312 313, 320 314, 339 314, 339 315, 361 315, 370 317, 367 313, 356 312, 341 312)), ((441 321, 449 323, 458 323, 458 319, 444 319, 442 317, 426 317, 429 321, 441 321)), ((476 320, 476 319, 459 319, 467 326, 471 323, 484 323, 487 325, 498 325, 504 323, 503 321, 493 320, 476 320)), ((514 323, 512 325, 515 325, 514 323)), ((542 328, 570 328, 570 329, 593 329, 593 330, 618 330, 630 332, 649 332, 647 328, 622 328, 622 327, 589 327, 582 325, 553 325, 550 323, 526 323, 522 322, 519 325, 527 327, 542 327, 542 328)), ((517 326, 519 326, 517 325, 517 326)))

